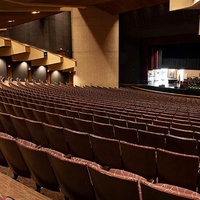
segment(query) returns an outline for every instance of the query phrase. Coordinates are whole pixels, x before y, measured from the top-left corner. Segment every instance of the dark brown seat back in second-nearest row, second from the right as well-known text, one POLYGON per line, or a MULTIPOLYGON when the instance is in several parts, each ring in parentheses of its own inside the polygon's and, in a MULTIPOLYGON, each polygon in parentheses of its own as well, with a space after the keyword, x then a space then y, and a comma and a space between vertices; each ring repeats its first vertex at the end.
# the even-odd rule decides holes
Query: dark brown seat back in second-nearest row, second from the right
POLYGON ((120 146, 124 170, 136 173, 146 179, 156 179, 155 148, 127 142, 120 142, 120 146))

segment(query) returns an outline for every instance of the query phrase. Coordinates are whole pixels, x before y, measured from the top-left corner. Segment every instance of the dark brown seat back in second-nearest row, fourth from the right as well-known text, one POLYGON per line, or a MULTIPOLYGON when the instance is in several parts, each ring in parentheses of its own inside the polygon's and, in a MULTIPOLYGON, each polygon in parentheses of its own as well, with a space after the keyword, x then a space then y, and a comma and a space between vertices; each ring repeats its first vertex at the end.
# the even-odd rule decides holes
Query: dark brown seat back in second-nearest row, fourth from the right
POLYGON ((75 157, 94 161, 92 147, 88 133, 64 129, 70 154, 75 157))

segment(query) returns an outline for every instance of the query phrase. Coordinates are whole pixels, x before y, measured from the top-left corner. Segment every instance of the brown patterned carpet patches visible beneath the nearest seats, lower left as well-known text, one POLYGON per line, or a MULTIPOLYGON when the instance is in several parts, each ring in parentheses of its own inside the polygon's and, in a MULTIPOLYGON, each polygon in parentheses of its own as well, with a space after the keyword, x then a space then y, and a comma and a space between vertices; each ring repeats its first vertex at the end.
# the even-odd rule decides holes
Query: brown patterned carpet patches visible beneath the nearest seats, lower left
MULTIPOLYGON (((0 166, 0 172, 3 174, 6 174, 7 176, 13 177, 13 173, 8 167, 2 167, 0 166)), ((29 178, 23 178, 23 177, 18 177, 17 179, 20 183, 23 183, 29 188, 32 188, 35 190, 35 183, 32 179, 29 178)), ((61 192, 54 192, 51 190, 47 190, 45 188, 42 188, 41 194, 49 197, 52 200, 64 200, 64 195, 61 192)))

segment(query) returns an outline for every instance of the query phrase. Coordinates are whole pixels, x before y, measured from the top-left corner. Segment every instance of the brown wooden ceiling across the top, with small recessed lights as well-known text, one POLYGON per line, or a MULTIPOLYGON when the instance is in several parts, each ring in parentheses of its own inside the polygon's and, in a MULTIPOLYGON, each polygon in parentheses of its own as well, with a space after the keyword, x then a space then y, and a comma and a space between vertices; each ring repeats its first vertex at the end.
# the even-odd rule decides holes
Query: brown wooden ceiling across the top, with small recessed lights
POLYGON ((9 28, 36 19, 44 18, 72 7, 96 6, 111 14, 120 14, 169 0, 0 0, 0 28, 9 28), (32 11, 40 11, 32 15, 32 11), (8 20, 15 20, 11 23, 8 20))

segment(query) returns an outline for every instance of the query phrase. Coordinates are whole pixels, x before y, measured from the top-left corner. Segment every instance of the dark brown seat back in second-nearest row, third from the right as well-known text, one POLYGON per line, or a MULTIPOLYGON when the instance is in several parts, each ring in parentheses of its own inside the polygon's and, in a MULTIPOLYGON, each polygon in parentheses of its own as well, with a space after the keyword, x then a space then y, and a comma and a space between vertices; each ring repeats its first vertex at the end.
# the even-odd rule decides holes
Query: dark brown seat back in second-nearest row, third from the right
POLYGON ((90 135, 95 162, 102 166, 122 169, 119 141, 90 135))

